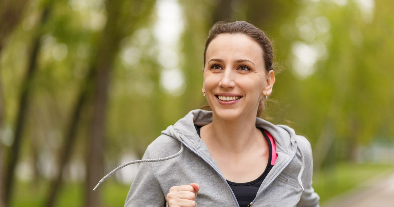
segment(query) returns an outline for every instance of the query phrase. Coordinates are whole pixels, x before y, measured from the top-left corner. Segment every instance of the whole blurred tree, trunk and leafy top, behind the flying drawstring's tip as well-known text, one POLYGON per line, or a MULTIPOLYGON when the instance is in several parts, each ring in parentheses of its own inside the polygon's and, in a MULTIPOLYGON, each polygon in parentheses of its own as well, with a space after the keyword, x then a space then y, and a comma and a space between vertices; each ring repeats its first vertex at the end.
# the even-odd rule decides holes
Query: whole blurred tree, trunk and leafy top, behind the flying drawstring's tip
POLYGON ((132 34, 141 22, 140 15, 149 15, 155 1, 106 1, 107 23, 98 42, 97 56, 93 60, 93 108, 87 141, 87 175, 85 194, 87 207, 99 207, 100 189, 93 187, 104 174, 105 119, 108 99, 108 86, 113 62, 119 51, 121 40, 132 34), (138 11, 134 13, 134 11, 138 11))

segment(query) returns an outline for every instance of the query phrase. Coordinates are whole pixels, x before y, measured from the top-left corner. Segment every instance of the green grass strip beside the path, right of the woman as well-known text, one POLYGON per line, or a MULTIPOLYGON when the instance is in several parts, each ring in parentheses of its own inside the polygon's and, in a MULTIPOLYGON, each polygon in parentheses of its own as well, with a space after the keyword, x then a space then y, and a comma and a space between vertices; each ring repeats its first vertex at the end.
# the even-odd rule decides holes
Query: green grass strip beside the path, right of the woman
POLYGON ((387 170, 394 171, 394 165, 338 163, 315 173, 312 186, 320 196, 320 204, 324 204, 387 170))

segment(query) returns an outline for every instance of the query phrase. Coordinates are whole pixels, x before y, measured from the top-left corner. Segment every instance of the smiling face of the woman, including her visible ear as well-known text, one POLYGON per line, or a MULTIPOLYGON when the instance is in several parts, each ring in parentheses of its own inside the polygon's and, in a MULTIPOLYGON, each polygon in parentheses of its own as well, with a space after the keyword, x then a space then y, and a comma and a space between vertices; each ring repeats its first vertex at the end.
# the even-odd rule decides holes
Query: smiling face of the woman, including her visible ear
POLYGON ((214 116, 227 121, 256 117, 260 96, 272 91, 260 45, 243 34, 220 34, 206 50, 203 92, 214 116))

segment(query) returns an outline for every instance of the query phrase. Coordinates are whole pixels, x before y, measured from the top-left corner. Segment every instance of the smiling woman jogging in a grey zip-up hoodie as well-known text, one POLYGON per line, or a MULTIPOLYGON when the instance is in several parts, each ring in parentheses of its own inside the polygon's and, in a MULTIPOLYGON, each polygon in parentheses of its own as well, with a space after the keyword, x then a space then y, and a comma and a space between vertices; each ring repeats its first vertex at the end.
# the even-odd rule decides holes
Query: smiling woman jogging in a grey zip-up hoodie
POLYGON ((191 111, 149 145, 143 159, 154 162, 141 163, 125 206, 318 206, 310 143, 258 118, 275 83, 272 64, 263 31, 216 23, 202 89, 212 112, 191 111))

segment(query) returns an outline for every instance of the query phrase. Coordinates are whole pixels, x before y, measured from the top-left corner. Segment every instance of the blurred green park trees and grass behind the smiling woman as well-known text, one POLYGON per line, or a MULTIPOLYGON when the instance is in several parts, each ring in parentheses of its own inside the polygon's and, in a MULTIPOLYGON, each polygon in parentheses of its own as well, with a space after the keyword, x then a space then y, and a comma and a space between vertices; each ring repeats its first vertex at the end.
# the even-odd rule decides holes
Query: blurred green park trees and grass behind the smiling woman
POLYGON ((138 165, 93 187, 205 104, 204 41, 225 19, 273 40, 281 72, 263 118, 310 140, 321 204, 384 178, 393 11, 392 0, 2 0, 0 207, 123 206, 138 165))

